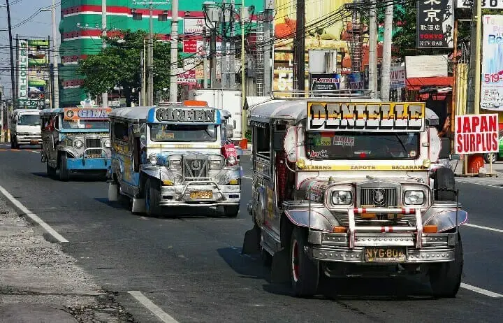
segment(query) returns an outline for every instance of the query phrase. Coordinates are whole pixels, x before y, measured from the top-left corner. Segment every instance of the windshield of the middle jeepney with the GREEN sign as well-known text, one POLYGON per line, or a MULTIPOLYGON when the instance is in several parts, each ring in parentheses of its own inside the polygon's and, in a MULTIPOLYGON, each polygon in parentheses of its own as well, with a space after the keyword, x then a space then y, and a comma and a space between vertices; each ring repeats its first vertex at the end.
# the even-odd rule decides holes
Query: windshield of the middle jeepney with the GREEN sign
POLYGON ((152 141, 217 141, 213 124, 150 124, 152 141))

